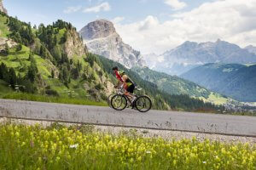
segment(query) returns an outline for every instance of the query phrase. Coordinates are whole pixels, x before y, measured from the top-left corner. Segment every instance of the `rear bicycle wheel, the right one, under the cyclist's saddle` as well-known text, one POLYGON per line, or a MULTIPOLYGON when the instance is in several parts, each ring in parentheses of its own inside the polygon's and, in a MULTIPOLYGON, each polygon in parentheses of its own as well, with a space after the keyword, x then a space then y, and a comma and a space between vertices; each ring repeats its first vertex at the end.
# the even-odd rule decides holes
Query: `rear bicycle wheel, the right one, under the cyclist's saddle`
POLYGON ((147 112, 152 107, 152 101, 148 96, 140 96, 135 100, 135 107, 137 111, 147 112))

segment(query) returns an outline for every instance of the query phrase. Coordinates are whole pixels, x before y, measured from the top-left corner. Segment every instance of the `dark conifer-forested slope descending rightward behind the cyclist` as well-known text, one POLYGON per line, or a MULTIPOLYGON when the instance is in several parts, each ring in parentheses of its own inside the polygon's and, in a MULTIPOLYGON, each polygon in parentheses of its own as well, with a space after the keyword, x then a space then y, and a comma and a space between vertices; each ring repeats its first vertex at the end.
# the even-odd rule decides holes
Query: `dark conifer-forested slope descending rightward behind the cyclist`
POLYGON ((133 82, 137 83, 139 88, 143 88, 142 94, 148 94, 151 99, 154 99, 154 105, 157 108, 165 109, 166 105, 171 106, 174 110, 184 110, 184 111, 217 111, 223 110, 221 106, 212 105, 212 103, 205 103, 201 99, 190 98, 187 94, 167 94, 164 91, 158 89, 158 86, 154 82, 148 82, 143 80, 136 71, 126 69, 124 65, 106 59, 104 57, 97 56, 98 59, 102 62, 102 68, 104 71, 107 71, 109 76, 114 80, 112 75, 113 65, 119 67, 119 70, 125 71, 125 73, 131 77, 133 82))

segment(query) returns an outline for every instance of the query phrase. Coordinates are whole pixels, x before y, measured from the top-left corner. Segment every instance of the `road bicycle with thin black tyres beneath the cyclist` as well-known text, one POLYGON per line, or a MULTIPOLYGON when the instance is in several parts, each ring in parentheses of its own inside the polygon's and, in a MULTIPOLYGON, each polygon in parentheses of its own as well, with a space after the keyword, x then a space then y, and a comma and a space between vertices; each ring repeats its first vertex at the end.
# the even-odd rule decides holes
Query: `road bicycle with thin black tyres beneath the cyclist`
MULTIPOLYGON (((141 90, 139 88, 136 88, 136 89, 138 91, 141 90)), ((152 101, 150 98, 148 98, 148 96, 146 95, 139 96, 137 94, 132 94, 132 95, 136 97, 134 101, 131 101, 131 99, 125 95, 124 88, 119 88, 117 91, 117 94, 114 94, 113 97, 111 97, 111 100, 110 100, 111 107, 116 111, 123 111, 127 107, 129 102, 132 109, 136 108, 137 111, 140 111, 140 112, 147 112, 151 109, 152 101)))

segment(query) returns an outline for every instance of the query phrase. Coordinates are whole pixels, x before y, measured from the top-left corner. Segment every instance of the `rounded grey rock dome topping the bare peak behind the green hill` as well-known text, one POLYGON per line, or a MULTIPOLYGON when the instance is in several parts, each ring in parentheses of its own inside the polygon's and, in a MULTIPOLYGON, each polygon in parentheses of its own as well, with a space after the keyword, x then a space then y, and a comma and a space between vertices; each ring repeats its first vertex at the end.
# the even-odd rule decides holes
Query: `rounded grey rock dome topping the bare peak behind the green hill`
POLYGON ((84 26, 80 31, 80 34, 86 40, 108 37, 115 33, 113 23, 109 20, 95 20, 90 22, 87 26, 84 26))

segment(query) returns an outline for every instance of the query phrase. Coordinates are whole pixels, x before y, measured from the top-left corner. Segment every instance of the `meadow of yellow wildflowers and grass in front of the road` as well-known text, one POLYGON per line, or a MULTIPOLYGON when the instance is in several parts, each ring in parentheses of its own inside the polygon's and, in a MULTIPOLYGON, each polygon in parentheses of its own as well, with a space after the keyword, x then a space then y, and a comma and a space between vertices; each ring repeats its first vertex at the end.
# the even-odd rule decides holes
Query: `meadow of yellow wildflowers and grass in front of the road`
POLYGON ((0 169, 256 169, 256 144, 0 124, 0 169))

